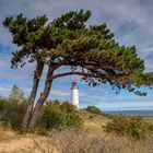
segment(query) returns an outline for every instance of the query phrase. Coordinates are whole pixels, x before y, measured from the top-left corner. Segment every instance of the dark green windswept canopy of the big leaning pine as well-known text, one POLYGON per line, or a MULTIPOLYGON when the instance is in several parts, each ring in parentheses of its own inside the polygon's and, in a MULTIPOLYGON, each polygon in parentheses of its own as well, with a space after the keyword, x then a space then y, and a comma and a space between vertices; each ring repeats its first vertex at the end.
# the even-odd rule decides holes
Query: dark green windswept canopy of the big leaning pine
POLYGON ((129 91, 146 84, 149 75, 153 80, 150 73, 143 74, 144 61, 138 57, 136 47, 119 46, 105 23, 86 25, 90 16, 90 11, 81 10, 70 11, 51 23, 47 22, 46 15, 32 20, 23 14, 16 19, 7 17, 3 24, 12 33, 13 43, 20 46, 20 50, 12 54, 12 67, 16 68, 19 63, 23 67, 27 61, 25 58, 28 62, 50 61, 52 67, 71 68, 54 78, 79 74, 90 85, 109 83, 129 91))

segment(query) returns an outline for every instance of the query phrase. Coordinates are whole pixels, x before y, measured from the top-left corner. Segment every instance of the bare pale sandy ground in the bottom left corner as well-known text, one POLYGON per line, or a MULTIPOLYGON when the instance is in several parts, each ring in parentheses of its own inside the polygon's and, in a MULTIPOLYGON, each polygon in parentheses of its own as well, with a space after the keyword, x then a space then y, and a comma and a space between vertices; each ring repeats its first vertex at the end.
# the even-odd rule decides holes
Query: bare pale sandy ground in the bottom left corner
POLYGON ((51 143, 49 137, 16 136, 0 142, 0 153, 58 153, 51 143))

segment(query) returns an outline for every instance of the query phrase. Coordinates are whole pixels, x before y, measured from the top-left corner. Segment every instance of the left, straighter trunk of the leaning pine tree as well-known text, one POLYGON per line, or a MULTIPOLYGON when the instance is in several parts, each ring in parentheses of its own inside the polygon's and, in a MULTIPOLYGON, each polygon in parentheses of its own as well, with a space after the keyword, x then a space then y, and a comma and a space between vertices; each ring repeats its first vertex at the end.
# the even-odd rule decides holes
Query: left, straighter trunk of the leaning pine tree
POLYGON ((36 66, 36 71, 34 74, 33 89, 31 92, 31 96, 28 98, 27 109, 26 109, 26 113, 24 115, 23 122, 22 122, 23 129, 26 129, 28 127, 28 123, 30 123, 31 115, 33 111, 33 105, 35 102, 35 97, 36 97, 36 93, 37 93, 37 89, 38 89, 38 84, 39 84, 39 79, 40 79, 40 75, 43 73, 43 69, 44 69, 44 63, 38 61, 37 66, 36 66))

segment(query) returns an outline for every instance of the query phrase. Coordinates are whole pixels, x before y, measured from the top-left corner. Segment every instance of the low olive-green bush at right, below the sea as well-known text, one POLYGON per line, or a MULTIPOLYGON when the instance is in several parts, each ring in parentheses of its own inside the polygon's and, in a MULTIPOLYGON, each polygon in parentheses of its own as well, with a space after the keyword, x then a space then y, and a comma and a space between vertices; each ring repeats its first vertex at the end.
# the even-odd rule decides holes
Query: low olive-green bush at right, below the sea
POLYGON ((113 118, 113 121, 106 125, 106 131, 141 139, 150 131, 151 127, 151 123, 145 122, 141 117, 116 116, 113 118))

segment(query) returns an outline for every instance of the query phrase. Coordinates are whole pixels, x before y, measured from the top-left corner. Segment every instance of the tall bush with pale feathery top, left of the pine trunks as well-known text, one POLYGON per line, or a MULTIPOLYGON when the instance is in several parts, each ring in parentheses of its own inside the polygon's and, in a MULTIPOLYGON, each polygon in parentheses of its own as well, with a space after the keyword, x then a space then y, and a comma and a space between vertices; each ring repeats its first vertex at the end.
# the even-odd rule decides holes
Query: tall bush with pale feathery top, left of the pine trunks
POLYGON ((7 126, 11 126, 11 128, 19 129, 21 127, 26 106, 24 93, 14 85, 9 98, 4 102, 0 120, 7 126))

